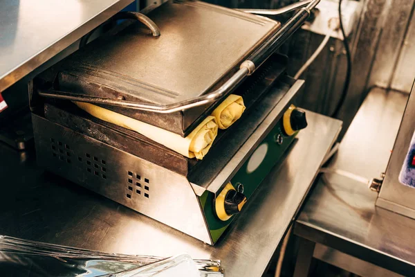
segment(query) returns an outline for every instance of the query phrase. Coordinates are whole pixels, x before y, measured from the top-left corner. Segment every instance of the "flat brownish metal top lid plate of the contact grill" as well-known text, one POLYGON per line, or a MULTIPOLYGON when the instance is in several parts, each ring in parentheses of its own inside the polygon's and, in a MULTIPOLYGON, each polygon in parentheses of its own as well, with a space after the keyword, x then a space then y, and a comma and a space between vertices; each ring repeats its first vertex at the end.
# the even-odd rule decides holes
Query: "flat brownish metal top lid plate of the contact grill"
MULTIPOLYGON (((275 33, 277 21, 199 1, 168 1, 147 15, 156 38, 136 22, 66 59, 61 91, 134 102, 171 104, 201 96, 228 80, 243 60, 275 33)), ((185 136, 214 105, 174 114, 107 107, 185 136)))

